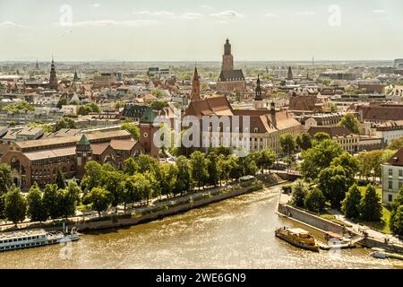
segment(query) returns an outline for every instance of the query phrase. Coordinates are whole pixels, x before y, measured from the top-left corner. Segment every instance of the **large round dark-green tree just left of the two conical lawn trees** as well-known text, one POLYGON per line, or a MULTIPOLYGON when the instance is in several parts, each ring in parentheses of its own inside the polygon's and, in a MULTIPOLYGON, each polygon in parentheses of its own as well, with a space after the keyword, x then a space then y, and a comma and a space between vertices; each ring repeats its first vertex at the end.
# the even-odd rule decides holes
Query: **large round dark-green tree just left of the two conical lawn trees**
POLYGON ((347 180, 346 170, 341 166, 330 166, 322 170, 318 176, 319 188, 330 201, 332 208, 339 209, 345 198, 348 188, 353 184, 347 180))

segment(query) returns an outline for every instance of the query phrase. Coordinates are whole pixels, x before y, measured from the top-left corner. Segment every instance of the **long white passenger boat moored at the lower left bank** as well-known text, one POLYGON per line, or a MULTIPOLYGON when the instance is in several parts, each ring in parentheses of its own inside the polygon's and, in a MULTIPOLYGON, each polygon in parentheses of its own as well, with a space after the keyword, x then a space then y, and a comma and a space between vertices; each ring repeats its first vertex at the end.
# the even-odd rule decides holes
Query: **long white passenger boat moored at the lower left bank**
POLYGON ((20 230, 0 233, 0 252, 34 248, 49 244, 67 243, 80 239, 75 228, 71 232, 46 230, 20 230))

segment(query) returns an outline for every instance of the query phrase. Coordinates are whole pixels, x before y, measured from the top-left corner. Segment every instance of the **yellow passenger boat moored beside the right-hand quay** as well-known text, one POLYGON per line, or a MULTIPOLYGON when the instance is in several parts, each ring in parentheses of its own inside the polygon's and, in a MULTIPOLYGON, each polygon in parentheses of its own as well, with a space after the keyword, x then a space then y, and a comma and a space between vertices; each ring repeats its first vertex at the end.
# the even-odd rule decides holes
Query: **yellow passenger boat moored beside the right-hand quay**
POLYGON ((307 250, 319 252, 319 245, 308 231, 302 228, 282 227, 275 231, 279 239, 286 240, 288 243, 307 250))

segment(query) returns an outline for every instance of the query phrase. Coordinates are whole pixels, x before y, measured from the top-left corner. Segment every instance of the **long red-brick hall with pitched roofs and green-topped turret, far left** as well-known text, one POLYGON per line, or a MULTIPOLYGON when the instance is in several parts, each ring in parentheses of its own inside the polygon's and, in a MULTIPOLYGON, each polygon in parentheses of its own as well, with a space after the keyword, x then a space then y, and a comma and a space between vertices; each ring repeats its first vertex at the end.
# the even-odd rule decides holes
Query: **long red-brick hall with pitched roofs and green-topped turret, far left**
POLYGON ((53 183, 57 169, 64 178, 81 178, 87 161, 108 162, 118 169, 142 152, 141 144, 120 130, 0 144, 0 161, 10 164, 13 183, 27 190, 34 182, 40 187, 53 183))

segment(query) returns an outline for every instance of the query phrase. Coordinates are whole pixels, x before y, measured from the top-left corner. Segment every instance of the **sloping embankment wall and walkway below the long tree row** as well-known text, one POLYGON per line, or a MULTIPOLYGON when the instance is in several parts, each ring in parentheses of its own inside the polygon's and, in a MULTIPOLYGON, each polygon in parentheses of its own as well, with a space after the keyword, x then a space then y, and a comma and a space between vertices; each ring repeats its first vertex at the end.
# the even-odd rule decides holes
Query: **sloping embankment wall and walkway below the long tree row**
POLYGON ((150 205, 136 207, 132 210, 127 210, 124 213, 109 213, 101 217, 90 217, 90 219, 86 216, 75 216, 67 219, 67 221, 24 222, 19 228, 15 228, 13 225, 8 225, 9 227, 6 227, 2 231, 30 229, 57 230, 62 227, 63 222, 65 222, 68 228, 76 227, 81 232, 122 228, 125 226, 151 222, 176 213, 184 213, 193 208, 216 203, 231 197, 241 196, 256 190, 261 190, 265 187, 273 187, 285 182, 286 181, 276 177, 273 177, 270 182, 263 182, 255 179, 253 182, 248 183, 247 186, 245 184, 243 184, 243 186, 236 184, 227 187, 202 190, 184 196, 157 201, 150 205))

